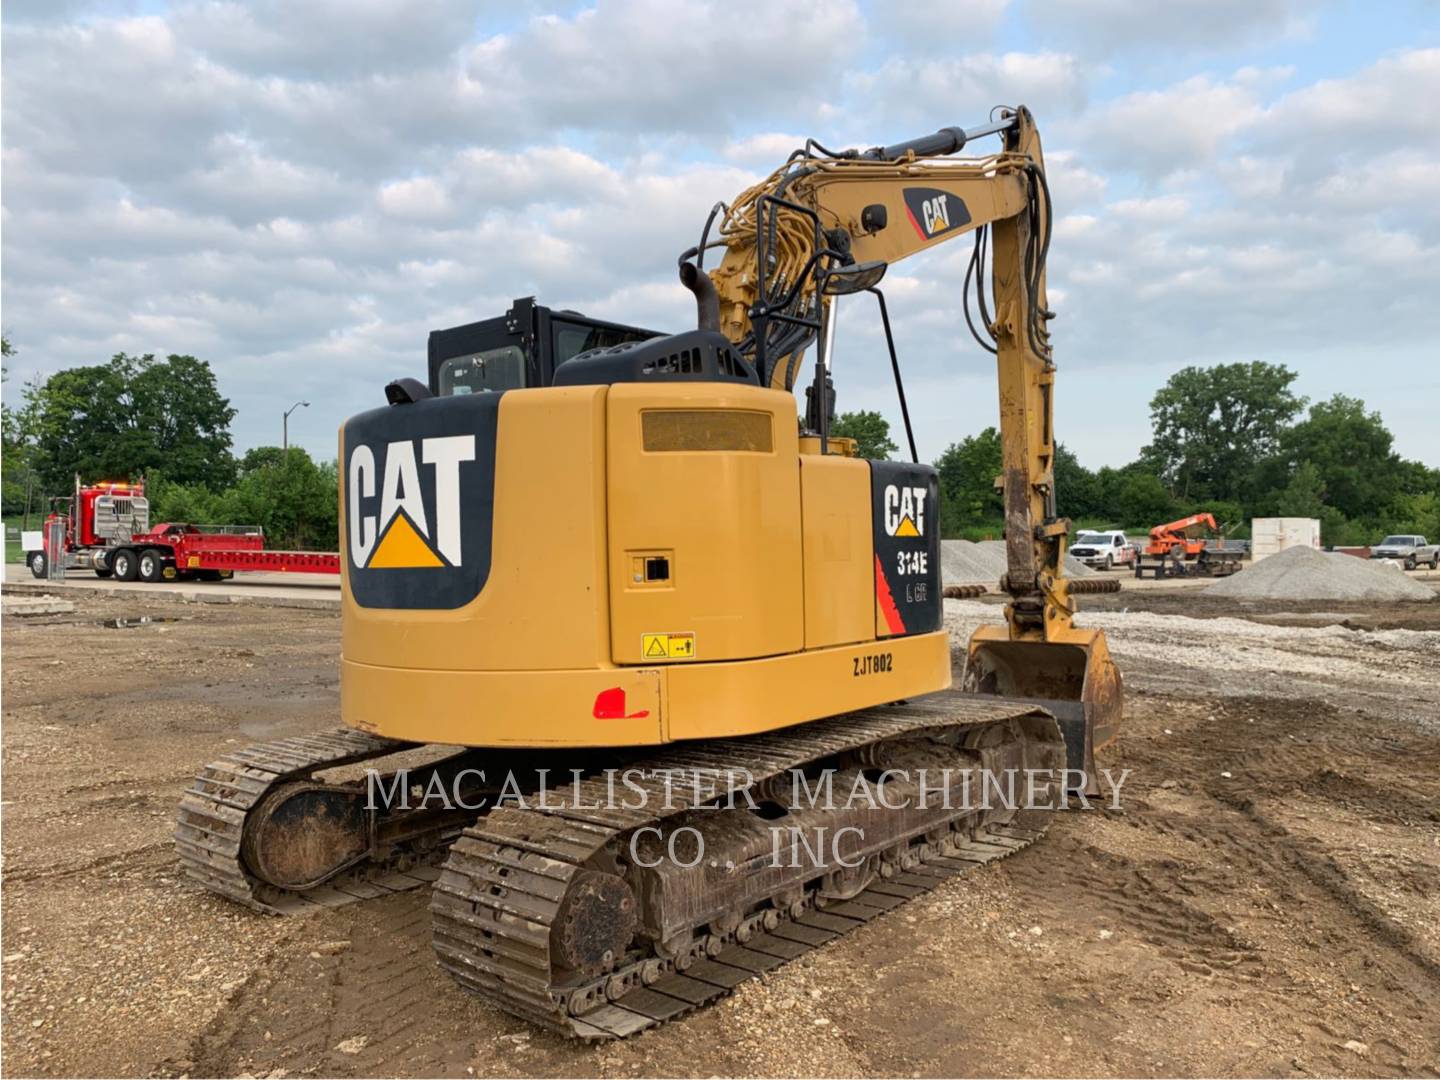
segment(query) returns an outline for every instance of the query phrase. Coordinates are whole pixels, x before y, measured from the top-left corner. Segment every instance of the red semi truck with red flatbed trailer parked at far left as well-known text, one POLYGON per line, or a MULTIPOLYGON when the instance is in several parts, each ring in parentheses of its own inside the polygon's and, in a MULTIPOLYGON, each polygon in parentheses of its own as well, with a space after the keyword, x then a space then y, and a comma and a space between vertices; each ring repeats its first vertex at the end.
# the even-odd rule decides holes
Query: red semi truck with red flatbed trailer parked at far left
POLYGON ((56 500, 45 530, 24 534, 24 560, 36 577, 50 566, 94 570, 121 582, 219 582, 236 570, 340 573, 334 552, 269 552, 258 526, 150 524, 145 485, 105 481, 56 500))

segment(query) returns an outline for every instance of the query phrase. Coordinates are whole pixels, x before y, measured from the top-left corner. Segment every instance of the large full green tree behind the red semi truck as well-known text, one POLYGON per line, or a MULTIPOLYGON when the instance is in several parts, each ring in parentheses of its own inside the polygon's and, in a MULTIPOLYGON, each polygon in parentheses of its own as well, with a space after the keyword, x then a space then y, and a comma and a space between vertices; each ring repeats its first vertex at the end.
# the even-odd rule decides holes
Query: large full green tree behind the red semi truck
POLYGON ((117 353, 52 374, 29 392, 36 468, 49 488, 163 471, 177 484, 225 487, 235 475, 230 420, 215 373, 193 356, 117 353))

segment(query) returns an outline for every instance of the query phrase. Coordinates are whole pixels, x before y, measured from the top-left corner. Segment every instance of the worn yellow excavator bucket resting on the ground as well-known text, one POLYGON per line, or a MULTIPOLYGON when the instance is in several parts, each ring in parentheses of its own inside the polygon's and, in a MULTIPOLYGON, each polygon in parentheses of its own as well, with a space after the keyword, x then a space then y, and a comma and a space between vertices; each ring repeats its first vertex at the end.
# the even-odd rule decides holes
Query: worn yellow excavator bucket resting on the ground
POLYGON ((1120 670, 1104 631, 1067 628, 1051 641, 1012 641, 1005 626, 981 626, 971 636, 960 685, 1050 711, 1064 734, 1066 768, 1084 770, 1084 793, 1099 793, 1094 752, 1119 734, 1123 708, 1120 670))

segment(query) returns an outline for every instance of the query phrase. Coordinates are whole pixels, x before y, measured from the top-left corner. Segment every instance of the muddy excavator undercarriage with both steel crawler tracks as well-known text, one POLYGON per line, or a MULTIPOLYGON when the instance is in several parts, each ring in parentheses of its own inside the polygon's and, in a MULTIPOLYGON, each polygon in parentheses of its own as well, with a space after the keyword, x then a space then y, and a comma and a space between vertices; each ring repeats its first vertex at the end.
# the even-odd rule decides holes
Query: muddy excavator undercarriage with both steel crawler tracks
POLYGON ((1027 847, 1066 766, 1045 711, 940 693, 644 757, 602 752, 583 770, 573 753, 562 768, 553 753, 456 750, 364 780, 317 776, 415 749, 340 730, 212 763, 180 808, 187 873, 266 913, 432 883, 441 966, 585 1040, 706 1005, 1027 847))

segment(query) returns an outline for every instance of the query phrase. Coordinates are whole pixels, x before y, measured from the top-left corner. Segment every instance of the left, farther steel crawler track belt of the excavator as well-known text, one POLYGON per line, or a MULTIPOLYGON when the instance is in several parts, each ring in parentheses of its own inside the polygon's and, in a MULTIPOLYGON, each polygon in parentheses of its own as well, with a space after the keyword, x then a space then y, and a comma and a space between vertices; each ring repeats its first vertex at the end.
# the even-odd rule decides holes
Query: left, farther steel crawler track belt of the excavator
POLYGON ((432 867, 412 867, 402 874, 367 863, 318 888, 291 891, 256 880, 240 857, 245 816, 276 785, 415 746, 341 727, 256 743, 210 762, 180 799, 174 838, 181 867, 212 893, 268 914, 295 914, 315 910, 317 904, 334 907, 432 881, 432 867))

